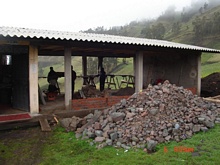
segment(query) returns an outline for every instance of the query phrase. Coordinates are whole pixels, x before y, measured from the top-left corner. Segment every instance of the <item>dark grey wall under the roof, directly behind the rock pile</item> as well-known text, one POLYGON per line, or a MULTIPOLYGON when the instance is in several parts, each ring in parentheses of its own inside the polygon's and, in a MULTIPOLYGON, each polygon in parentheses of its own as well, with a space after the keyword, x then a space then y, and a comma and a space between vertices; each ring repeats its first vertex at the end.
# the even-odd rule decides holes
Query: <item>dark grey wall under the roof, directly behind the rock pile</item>
POLYGON ((200 89, 200 57, 193 51, 144 54, 144 88, 169 80, 177 86, 200 89))

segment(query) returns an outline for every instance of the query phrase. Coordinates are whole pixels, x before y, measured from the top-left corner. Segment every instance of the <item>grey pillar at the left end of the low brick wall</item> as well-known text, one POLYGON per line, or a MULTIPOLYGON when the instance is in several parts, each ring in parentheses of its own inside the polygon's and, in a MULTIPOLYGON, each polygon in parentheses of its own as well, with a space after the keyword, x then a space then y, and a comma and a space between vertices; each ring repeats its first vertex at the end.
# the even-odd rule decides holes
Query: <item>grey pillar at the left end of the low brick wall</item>
POLYGON ((71 48, 64 48, 65 109, 72 109, 71 48))

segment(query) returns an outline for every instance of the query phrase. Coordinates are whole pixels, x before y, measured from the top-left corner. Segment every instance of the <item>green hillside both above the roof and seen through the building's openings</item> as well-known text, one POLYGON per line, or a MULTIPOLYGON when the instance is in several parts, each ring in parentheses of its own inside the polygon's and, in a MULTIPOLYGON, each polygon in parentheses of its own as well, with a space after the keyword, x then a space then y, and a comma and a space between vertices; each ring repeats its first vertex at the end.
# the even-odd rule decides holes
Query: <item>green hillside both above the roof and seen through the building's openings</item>
MULTIPOLYGON (((210 2, 213 0, 210 0, 210 2)), ((203 4, 200 4, 201 6, 203 4)), ((201 9, 201 8, 200 8, 201 9)), ((120 27, 112 27, 105 29, 97 27, 88 29, 87 33, 102 33, 110 35, 122 35, 141 38, 154 38, 168 40, 173 42, 198 45, 203 47, 220 49, 220 2, 217 6, 210 5, 202 11, 188 9, 185 12, 175 12, 167 10, 164 15, 161 15, 155 20, 132 21, 128 25, 120 27)), ((133 74, 133 61, 127 59, 127 63, 123 63, 122 59, 106 59, 104 61, 105 68, 108 68, 108 73, 112 74, 133 74), (107 66, 109 60, 114 60, 112 66, 107 66), (116 60, 116 61, 115 61, 116 60)), ((64 70, 63 57, 42 57, 39 58, 39 75, 47 76, 49 67, 53 66, 55 71, 63 72, 64 70), (53 62, 51 62, 53 61, 53 62)), ((77 75, 82 74, 81 57, 73 57, 72 65, 77 75)), ((97 68, 97 59, 90 58, 88 67, 97 68)), ((202 77, 205 77, 214 72, 220 72, 220 55, 219 54, 202 54, 202 77)), ((96 70, 90 73, 96 74, 96 70)), ((96 80, 98 82, 98 80, 96 80)), ((48 83, 46 79, 39 79, 40 86, 43 90, 47 89, 48 83)), ((64 92, 64 79, 59 79, 61 91, 64 92)), ((76 90, 82 86, 82 80, 77 79, 76 90)))

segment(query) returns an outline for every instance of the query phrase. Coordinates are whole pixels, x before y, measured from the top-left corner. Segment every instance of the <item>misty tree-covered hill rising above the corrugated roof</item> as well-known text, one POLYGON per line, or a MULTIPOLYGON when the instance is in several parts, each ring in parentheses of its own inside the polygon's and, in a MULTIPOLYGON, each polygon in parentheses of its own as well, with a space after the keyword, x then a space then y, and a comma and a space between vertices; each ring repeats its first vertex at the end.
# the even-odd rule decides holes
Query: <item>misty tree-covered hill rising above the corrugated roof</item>
POLYGON ((131 21, 128 25, 109 29, 101 26, 83 32, 168 40, 214 48, 215 45, 207 45, 204 39, 220 38, 220 1, 195 1, 182 11, 170 6, 154 20, 131 21))

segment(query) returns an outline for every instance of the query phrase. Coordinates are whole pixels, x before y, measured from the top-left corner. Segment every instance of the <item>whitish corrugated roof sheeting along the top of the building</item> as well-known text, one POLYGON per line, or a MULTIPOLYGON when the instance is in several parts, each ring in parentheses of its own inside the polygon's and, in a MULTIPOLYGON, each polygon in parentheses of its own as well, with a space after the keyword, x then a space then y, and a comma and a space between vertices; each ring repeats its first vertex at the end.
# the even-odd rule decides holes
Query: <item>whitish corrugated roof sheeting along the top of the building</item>
POLYGON ((220 50, 216 50, 216 49, 174 43, 164 40, 153 40, 153 39, 114 36, 114 35, 105 35, 105 34, 91 34, 91 33, 82 33, 82 32, 76 33, 76 32, 39 30, 39 29, 29 29, 29 28, 17 28, 17 27, 0 27, 0 36, 156 46, 156 47, 178 48, 178 49, 197 50, 203 52, 220 53, 220 50))

